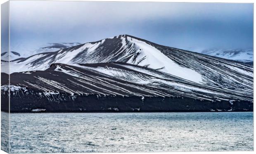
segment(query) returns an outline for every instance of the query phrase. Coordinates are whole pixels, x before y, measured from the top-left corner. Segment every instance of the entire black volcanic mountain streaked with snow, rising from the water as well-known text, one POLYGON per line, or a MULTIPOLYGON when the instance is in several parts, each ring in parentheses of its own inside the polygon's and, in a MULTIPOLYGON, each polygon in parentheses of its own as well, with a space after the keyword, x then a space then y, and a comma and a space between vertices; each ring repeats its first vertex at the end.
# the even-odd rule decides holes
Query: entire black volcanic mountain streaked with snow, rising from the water
POLYGON ((128 35, 10 62, 10 73, 17 112, 253 109, 253 66, 128 35))

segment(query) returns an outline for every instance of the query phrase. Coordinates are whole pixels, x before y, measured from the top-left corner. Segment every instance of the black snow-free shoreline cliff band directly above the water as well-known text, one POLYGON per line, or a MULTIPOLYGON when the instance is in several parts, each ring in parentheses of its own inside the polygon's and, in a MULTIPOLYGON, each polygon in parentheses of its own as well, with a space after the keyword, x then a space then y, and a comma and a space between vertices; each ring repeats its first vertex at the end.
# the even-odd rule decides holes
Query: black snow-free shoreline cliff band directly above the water
POLYGON ((1 111, 11 113, 117 113, 117 112, 230 112, 253 111, 253 102, 246 100, 202 100, 190 97, 139 97, 98 95, 24 95, 1 97, 1 111), (8 101, 9 100, 9 101, 8 101), (9 104, 10 103, 10 104, 9 104))

